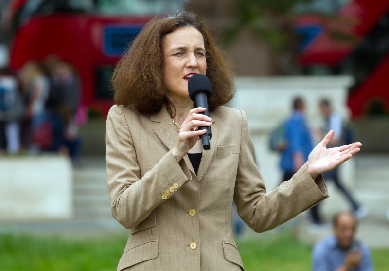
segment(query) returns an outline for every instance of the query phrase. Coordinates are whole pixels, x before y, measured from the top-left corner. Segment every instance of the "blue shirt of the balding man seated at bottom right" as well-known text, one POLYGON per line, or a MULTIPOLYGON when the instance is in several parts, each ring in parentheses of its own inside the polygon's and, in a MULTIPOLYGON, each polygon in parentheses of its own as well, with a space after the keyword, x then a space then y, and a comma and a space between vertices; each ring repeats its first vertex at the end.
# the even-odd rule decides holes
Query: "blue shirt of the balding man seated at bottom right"
MULTIPOLYGON (((361 242, 358 242, 358 247, 362 260, 351 271, 372 271, 369 249, 361 242)), ((313 250, 313 271, 335 271, 344 264, 346 253, 347 251, 338 246, 335 236, 319 241, 313 250)))

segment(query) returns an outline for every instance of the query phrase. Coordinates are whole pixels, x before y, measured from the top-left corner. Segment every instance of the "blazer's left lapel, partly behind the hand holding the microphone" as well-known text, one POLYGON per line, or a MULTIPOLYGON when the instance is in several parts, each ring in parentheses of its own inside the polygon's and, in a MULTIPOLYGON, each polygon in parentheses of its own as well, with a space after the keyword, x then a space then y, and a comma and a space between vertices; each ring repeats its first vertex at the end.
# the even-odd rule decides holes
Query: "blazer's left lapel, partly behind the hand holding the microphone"
MULTIPOLYGON (((161 110, 155 115, 151 115, 150 120, 154 123, 154 133, 159 137, 162 143, 171 150, 176 143, 178 131, 177 127, 174 125, 172 118, 169 115, 169 112, 165 107, 162 107, 161 110)), ((195 169, 192 166, 191 161, 189 160, 188 155, 184 156, 184 161, 188 169, 195 174, 195 169)))

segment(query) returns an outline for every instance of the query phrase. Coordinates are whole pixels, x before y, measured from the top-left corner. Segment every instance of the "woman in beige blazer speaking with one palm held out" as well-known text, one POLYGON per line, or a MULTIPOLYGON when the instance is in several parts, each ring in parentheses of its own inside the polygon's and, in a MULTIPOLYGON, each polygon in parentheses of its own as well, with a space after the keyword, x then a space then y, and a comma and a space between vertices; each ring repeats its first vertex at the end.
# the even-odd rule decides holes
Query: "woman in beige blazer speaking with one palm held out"
POLYGON ((254 231, 270 230, 328 197, 322 172, 360 143, 327 149, 330 131, 290 179, 266 194, 228 63, 201 18, 185 11, 153 18, 113 75, 106 123, 111 209, 130 229, 118 270, 243 270, 231 229, 232 201, 254 231), (208 76, 206 108, 194 108, 188 81, 208 76), (212 127, 211 149, 199 139, 212 127))

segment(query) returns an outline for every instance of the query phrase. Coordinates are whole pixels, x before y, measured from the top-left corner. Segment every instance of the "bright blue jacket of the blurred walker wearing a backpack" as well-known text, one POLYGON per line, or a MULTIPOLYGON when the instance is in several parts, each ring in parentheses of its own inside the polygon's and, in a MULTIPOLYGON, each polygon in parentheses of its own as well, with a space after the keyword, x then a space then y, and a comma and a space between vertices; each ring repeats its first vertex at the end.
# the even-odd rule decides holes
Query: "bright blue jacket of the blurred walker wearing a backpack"
POLYGON ((294 111, 286 120, 285 135, 288 146, 282 151, 280 167, 284 172, 293 173, 293 154, 301 152, 307 161, 309 153, 312 151, 311 133, 302 112, 294 111))

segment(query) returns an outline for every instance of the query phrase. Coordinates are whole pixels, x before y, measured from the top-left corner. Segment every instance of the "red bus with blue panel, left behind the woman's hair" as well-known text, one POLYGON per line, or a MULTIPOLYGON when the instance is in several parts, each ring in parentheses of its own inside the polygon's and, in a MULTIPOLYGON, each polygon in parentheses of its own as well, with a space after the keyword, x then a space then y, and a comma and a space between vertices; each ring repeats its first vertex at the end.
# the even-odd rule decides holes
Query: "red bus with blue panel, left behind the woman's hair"
POLYGON ((113 104, 114 65, 152 15, 166 9, 164 1, 138 2, 12 1, 8 13, 11 69, 18 71, 28 61, 57 55, 79 73, 82 104, 106 115, 113 104))

